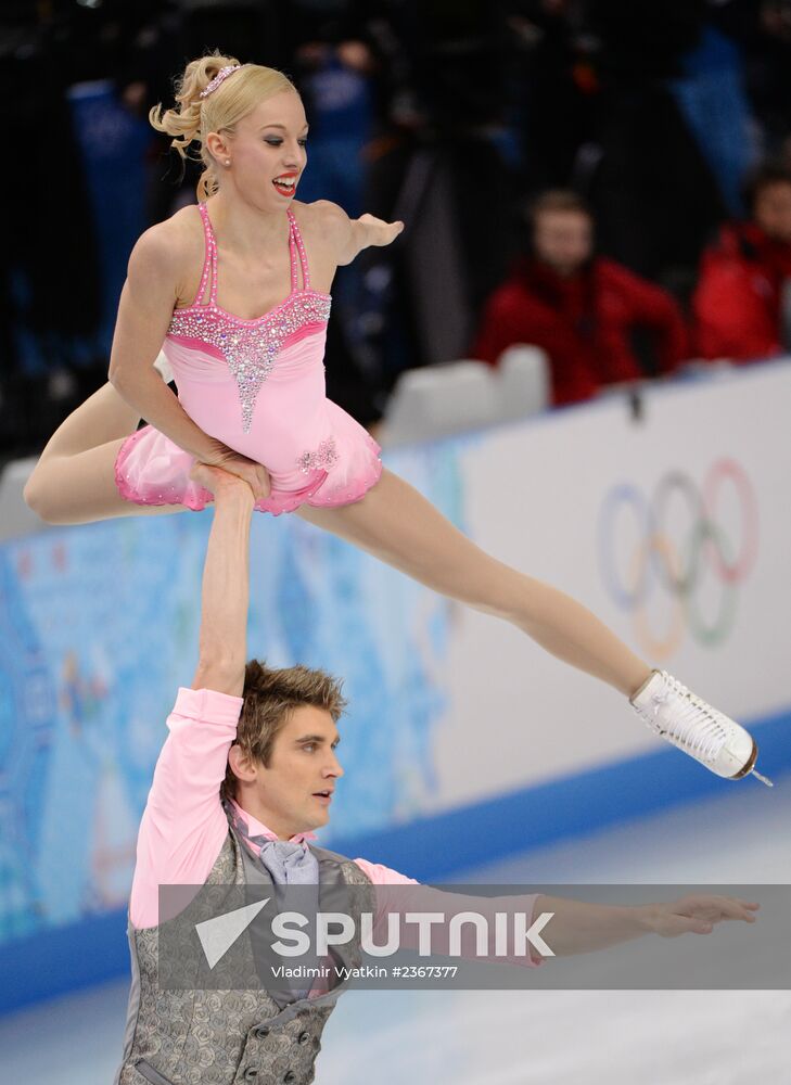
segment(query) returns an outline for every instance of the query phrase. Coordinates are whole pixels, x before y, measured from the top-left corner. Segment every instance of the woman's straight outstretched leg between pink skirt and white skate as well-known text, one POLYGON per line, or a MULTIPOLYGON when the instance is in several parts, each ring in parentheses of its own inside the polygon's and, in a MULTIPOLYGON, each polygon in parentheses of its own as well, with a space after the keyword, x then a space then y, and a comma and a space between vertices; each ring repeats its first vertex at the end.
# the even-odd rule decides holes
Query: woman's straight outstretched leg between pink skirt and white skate
POLYGON ((589 610, 489 557, 413 486, 386 469, 366 496, 307 521, 354 542, 442 595, 512 622, 543 648, 631 695, 651 668, 589 610))

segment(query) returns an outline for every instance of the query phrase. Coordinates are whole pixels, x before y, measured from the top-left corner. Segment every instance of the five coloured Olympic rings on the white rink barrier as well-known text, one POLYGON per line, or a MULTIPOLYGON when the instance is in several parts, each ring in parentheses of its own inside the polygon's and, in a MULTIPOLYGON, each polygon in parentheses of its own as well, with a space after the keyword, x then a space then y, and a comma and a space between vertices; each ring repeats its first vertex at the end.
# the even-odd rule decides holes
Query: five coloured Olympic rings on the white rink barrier
POLYGON ((688 475, 671 471, 650 499, 630 483, 614 486, 604 498, 599 516, 599 561, 613 600, 633 615, 635 635, 656 659, 671 655, 685 629, 709 647, 722 643, 736 616, 736 587, 752 572, 758 550, 758 514, 755 492, 733 460, 717 460, 702 487, 688 475), (730 487, 738 505, 739 532, 733 542, 718 522, 730 487), (684 531, 672 531, 672 505, 682 502, 684 531), (628 520, 631 535, 628 535, 628 520), (636 532, 636 534, 635 534, 636 532), (624 559, 618 541, 634 537, 624 559), (705 578, 714 577, 718 599, 713 615, 703 614, 700 595, 705 578), (648 603, 654 590, 669 598, 666 627, 651 627, 648 603))

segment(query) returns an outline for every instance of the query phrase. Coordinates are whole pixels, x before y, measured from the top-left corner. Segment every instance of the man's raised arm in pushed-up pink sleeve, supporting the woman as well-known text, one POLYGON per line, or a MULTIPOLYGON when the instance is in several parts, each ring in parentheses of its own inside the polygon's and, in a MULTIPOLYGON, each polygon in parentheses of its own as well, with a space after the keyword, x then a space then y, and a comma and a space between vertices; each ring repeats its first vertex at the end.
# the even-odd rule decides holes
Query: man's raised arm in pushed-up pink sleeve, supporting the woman
POLYGON ((203 884, 228 833, 219 789, 242 710, 254 498, 246 483, 216 468, 195 474, 215 494, 200 656, 192 688, 179 689, 167 718, 140 824, 129 902, 137 928, 158 922, 160 884, 203 884))

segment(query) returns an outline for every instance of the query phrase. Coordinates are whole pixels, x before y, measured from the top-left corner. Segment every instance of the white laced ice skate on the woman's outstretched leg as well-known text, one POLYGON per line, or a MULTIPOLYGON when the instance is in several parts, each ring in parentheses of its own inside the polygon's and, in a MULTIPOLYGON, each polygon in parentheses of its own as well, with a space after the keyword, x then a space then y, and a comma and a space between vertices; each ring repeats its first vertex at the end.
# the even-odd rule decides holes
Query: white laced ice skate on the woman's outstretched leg
POLYGON ((739 780, 752 773, 773 787, 755 771, 758 748, 744 728, 666 671, 653 671, 629 702, 652 731, 717 776, 739 780))

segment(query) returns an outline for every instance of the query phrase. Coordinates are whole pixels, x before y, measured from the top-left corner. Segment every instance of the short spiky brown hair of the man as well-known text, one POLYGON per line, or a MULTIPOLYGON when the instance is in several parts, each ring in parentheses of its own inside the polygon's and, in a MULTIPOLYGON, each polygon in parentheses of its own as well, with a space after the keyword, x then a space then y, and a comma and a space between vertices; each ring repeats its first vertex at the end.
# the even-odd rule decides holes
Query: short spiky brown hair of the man
MULTIPOLYGON (((341 679, 302 663, 275 669, 263 661, 251 660, 244 668, 244 703, 234 745, 239 745, 254 761, 268 765, 275 740, 294 709, 311 704, 324 709, 337 723, 346 709, 341 687, 341 679)), ((222 797, 232 799, 235 795, 237 782, 228 765, 222 781, 222 797)))

